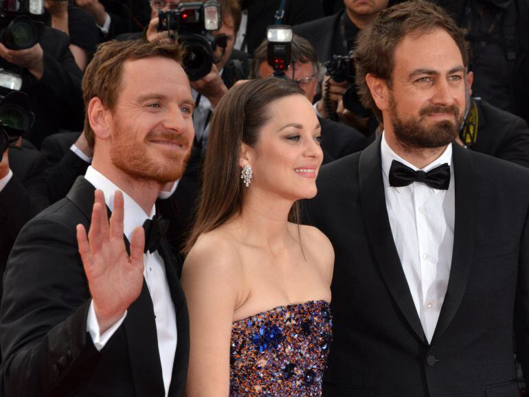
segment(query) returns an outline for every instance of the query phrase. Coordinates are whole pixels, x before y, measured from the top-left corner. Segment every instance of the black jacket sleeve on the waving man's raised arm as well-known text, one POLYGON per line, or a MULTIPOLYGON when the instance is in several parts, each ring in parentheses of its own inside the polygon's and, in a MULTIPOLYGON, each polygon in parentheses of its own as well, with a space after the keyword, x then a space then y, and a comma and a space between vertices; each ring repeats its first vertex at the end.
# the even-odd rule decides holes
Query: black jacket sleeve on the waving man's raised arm
POLYGON ((63 396, 85 383, 100 356, 87 336, 89 304, 74 227, 34 218, 5 270, 0 394, 63 396))

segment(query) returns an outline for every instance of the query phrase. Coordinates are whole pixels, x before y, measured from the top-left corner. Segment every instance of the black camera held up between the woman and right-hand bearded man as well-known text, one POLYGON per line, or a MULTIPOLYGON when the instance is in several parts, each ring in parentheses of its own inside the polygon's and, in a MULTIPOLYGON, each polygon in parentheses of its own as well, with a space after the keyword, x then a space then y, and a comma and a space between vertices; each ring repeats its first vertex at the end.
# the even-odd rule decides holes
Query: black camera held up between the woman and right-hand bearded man
MULTIPOLYGON (((333 55, 333 59, 326 61, 324 65, 327 69, 327 75, 335 80, 335 82, 350 82, 350 86, 342 98, 344 101, 344 108, 358 117, 369 117, 370 111, 362 106, 360 98, 358 97, 358 86, 355 82, 356 70, 354 69, 352 53, 347 56, 333 55)), ((330 107, 327 105, 327 102, 329 102, 328 99, 324 98, 324 101, 326 102, 326 107, 330 107)), ((329 112, 329 109, 327 109, 327 111, 329 112)), ((333 118, 337 120, 334 111, 330 111, 329 114, 334 114, 333 118)))

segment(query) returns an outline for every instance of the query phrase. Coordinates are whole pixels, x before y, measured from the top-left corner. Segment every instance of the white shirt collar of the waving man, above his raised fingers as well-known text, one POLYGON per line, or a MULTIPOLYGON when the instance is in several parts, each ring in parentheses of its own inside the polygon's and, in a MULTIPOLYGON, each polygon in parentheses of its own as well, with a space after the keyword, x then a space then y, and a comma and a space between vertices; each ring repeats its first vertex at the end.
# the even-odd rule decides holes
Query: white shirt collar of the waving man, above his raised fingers
POLYGON ((131 196, 123 192, 122 189, 117 187, 115 183, 106 178, 101 172, 95 170, 92 166, 89 166, 85 179, 89 181, 96 189, 100 189, 104 193, 104 201, 106 206, 112 211, 114 208, 114 192, 120 190, 123 193, 123 205, 124 205, 124 217, 123 217, 123 232, 128 239, 131 241, 133 230, 142 226, 146 219, 152 219, 155 216, 156 208, 150 210, 150 215, 147 215, 142 207, 136 203, 131 196))

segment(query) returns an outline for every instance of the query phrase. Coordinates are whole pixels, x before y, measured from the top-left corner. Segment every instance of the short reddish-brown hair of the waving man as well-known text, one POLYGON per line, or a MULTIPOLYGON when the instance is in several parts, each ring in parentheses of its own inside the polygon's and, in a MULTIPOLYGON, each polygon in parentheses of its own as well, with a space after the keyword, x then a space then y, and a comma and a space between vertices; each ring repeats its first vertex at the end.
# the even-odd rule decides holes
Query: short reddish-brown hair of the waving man
MULTIPOLYGON (((99 45, 82 78, 85 110, 88 110, 92 98, 99 98, 107 109, 113 110, 120 91, 124 62, 153 56, 170 58, 181 65, 183 49, 177 43, 149 43, 143 40, 107 41, 99 45)), ((85 115, 85 135, 93 148, 95 139, 88 114, 85 115)))

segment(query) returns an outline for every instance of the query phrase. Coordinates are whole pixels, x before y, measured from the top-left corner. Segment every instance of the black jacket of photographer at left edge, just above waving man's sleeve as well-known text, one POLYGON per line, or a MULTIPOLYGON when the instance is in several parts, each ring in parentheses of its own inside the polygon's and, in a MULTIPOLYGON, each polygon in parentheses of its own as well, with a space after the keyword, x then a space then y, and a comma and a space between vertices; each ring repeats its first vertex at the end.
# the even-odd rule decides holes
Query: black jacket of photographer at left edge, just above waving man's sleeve
MULTIPOLYGON (((30 148, 10 147, 8 158, 13 176, 0 191, 0 281, 19 231, 49 205, 44 156, 30 148)), ((2 291, 0 284, 0 297, 2 291)))

